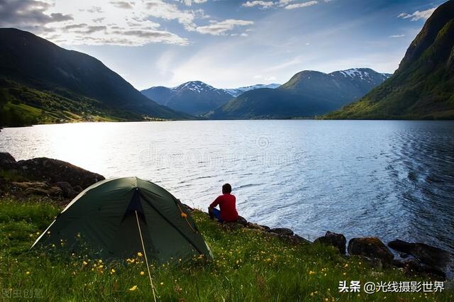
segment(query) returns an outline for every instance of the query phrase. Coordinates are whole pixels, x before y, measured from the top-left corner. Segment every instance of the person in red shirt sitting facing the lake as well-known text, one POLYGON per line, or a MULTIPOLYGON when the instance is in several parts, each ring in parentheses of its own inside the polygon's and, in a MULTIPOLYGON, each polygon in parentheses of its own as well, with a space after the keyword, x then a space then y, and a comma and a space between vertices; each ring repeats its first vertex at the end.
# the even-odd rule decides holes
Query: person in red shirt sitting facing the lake
POLYGON ((208 213, 211 219, 216 218, 219 222, 230 223, 238 220, 236 211, 236 197, 231 194, 232 186, 224 184, 222 186, 222 195, 218 196, 208 207, 208 213), (216 206, 219 205, 221 211, 216 206))

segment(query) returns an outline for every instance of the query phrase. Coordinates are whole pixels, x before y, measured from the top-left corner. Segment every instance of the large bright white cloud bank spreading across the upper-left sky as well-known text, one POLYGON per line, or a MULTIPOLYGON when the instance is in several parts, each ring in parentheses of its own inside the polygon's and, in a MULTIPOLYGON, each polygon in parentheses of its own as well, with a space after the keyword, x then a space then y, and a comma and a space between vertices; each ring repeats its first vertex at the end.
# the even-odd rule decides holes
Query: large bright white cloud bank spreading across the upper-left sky
MULTIPOLYGON (((203 3, 207 0, 192 0, 203 3)), ((188 45, 189 40, 160 26, 155 19, 176 20, 195 31, 201 9, 179 9, 164 0, 0 0, 0 26, 31 30, 65 45, 188 45), (74 13, 77 12, 77 13, 74 13), (151 18, 154 18, 151 21, 151 18)))

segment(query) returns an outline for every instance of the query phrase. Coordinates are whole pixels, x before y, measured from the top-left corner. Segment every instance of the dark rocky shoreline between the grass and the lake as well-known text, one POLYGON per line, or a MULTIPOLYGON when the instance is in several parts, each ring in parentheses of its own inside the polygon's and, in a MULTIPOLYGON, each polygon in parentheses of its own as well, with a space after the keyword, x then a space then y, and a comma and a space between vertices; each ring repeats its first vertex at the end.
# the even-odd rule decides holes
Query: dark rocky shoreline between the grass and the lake
MULTIPOLYGON (((9 153, 0 152, 0 186, 1 196, 11 196, 21 200, 28 196, 45 196, 60 207, 67 205, 72 198, 91 184, 104 179, 100 174, 89 172, 67 162, 52 160, 46 157, 31 160, 16 160, 9 153), (8 179, 8 177, 10 179, 8 179)), ((188 211, 208 213, 184 205, 188 211)), ((385 245, 378 237, 357 237, 346 240, 340 233, 329 230, 325 235, 315 238, 313 242, 294 233, 289 228, 270 228, 267 225, 251 223, 240 216, 236 223, 225 223, 228 228, 250 228, 262 233, 279 237, 291 244, 321 243, 336 247, 344 257, 364 257, 379 267, 398 267, 403 270, 416 271, 443 279, 452 279, 448 252, 431 247, 422 242, 404 242, 393 240, 385 245), (400 257, 395 257, 399 255, 400 257), (446 258, 445 258, 446 257, 446 258), (444 261, 443 261, 444 260, 444 261)))

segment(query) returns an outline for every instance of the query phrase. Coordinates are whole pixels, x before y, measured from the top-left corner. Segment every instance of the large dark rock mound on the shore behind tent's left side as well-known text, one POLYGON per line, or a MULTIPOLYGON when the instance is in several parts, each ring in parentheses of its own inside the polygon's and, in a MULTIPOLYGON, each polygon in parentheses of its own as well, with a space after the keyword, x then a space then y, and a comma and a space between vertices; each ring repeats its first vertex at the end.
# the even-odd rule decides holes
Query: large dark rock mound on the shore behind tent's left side
POLYGON ((52 160, 47 157, 20 160, 17 164, 23 174, 29 179, 47 181, 50 184, 65 181, 73 188, 75 186, 87 188, 97 181, 104 179, 99 174, 76 167, 68 162, 52 160))

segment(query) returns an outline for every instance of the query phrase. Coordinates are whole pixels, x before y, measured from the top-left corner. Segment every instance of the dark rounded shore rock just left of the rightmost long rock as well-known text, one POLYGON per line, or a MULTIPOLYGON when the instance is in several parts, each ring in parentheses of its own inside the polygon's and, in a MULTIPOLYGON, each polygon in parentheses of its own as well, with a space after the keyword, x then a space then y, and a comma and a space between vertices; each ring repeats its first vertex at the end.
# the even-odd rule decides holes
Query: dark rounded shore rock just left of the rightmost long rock
POLYGON ((394 255, 377 237, 352 238, 348 242, 348 253, 391 262, 394 255))

